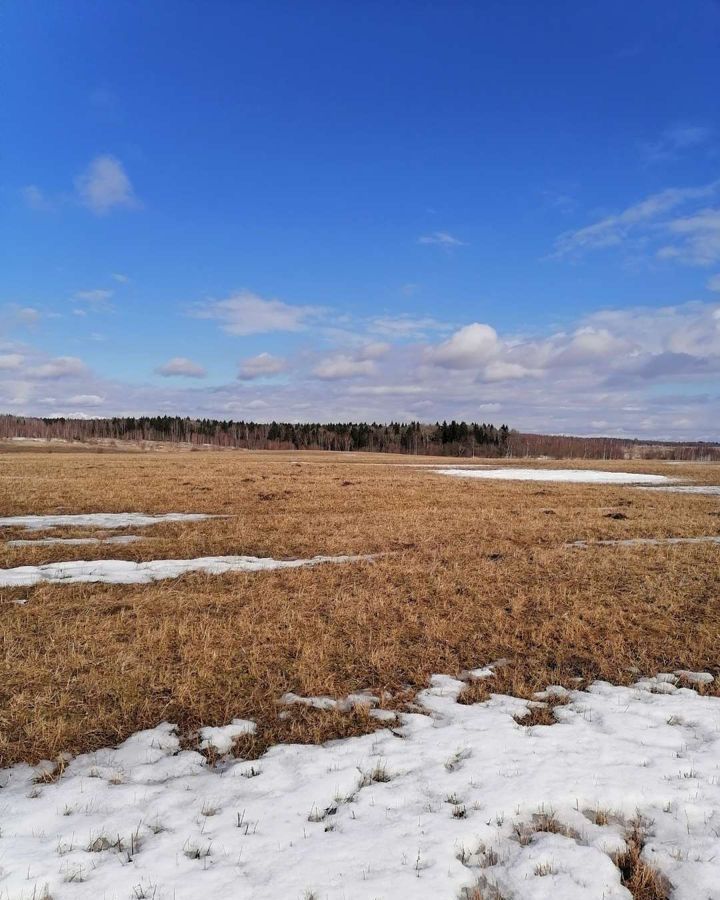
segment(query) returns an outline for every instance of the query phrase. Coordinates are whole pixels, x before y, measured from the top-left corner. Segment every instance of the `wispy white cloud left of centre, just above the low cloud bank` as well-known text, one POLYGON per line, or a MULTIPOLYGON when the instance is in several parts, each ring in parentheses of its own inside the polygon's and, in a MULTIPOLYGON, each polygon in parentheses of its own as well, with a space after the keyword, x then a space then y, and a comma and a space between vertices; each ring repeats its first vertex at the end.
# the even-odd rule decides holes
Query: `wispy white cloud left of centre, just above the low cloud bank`
POLYGON ((270 331, 301 331, 308 320, 320 315, 317 306, 291 306, 282 300, 265 300, 250 291, 240 291, 225 300, 198 304, 198 319, 215 319, 228 334, 264 334, 270 331))

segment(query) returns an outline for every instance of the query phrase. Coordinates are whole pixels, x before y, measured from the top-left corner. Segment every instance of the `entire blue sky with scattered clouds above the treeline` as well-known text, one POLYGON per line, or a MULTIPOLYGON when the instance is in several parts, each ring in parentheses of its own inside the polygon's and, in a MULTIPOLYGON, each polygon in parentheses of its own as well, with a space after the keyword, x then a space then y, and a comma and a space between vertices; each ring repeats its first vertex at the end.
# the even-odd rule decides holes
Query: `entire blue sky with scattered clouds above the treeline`
POLYGON ((2 29, 3 411, 720 438, 718 3, 2 29))

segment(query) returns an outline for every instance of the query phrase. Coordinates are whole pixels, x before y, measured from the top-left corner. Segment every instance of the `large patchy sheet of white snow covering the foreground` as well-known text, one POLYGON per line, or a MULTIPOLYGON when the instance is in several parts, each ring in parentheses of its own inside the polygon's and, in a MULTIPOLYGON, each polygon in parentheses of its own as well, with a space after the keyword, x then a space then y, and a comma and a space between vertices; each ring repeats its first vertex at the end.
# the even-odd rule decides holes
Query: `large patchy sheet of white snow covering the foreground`
MULTIPOLYGON (((509 900, 630 900, 612 857, 641 816, 671 897, 717 898, 720 699, 677 685, 551 689, 570 700, 558 723, 524 727, 526 701, 461 705, 462 682, 434 676, 392 730, 252 762, 212 769, 163 724, 54 783, 16 765, 0 771, 0 897, 453 900, 481 883, 509 900)), ((201 738, 222 752, 252 729, 201 738)))

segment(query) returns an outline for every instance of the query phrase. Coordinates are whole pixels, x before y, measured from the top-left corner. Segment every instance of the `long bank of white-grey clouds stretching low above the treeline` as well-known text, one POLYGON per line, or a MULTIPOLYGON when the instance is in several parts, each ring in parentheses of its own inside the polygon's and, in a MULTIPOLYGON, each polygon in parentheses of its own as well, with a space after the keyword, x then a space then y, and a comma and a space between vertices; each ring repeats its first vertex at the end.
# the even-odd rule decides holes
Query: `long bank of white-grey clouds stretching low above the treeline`
POLYGON ((712 387, 720 384, 720 302, 599 310, 562 331, 513 334, 470 323, 432 337, 389 339, 381 353, 360 333, 319 358, 299 353, 298 377, 258 378, 250 388, 227 373, 228 383, 212 389, 187 378, 110 381, 72 357, 5 344, 0 354, 11 360, 0 367, 0 408, 221 418, 255 410, 262 421, 490 418, 527 431, 720 438, 712 387))

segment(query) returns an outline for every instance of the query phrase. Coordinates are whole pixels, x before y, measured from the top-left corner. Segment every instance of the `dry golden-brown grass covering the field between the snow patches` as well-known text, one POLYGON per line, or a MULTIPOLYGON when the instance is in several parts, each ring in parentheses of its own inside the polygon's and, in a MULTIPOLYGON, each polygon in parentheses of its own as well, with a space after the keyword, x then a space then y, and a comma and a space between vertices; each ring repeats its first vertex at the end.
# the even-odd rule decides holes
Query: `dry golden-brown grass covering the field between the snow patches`
MULTIPOLYGON (((287 708, 277 700, 286 691, 342 697, 369 688, 395 697, 383 702, 392 707, 433 672, 499 657, 510 664, 492 685, 469 686, 466 700, 484 699, 488 688, 531 698, 548 684, 717 670, 716 546, 563 547, 577 539, 716 534, 717 498, 465 481, 397 465, 408 461, 247 452, 0 455, 3 515, 230 517, 142 529, 147 540, 129 546, 0 546, 2 567, 391 551, 338 567, 0 591, 1 763, 114 744, 163 720, 177 722, 192 742, 201 725, 234 717, 258 722, 257 737, 240 748, 250 757, 278 740, 376 727, 362 712, 294 707, 280 718, 287 708), (613 511, 627 518, 608 518, 613 511)), ((606 467, 720 482, 717 466, 606 467)), ((3 531, 4 538, 29 536, 3 531)))

